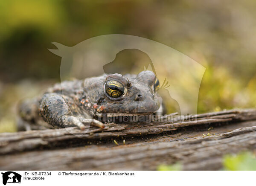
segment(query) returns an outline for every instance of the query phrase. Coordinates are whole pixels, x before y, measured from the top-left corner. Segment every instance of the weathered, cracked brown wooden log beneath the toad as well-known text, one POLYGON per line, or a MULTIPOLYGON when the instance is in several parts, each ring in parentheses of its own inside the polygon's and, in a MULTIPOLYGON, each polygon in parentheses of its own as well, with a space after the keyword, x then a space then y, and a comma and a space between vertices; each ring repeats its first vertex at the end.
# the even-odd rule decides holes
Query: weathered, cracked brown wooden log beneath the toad
POLYGON ((159 164, 179 161, 184 170, 217 170, 224 154, 254 149, 256 110, 226 110, 176 122, 110 123, 103 130, 92 127, 85 131, 67 128, 0 134, 0 167, 154 170, 159 164))

